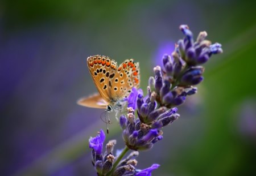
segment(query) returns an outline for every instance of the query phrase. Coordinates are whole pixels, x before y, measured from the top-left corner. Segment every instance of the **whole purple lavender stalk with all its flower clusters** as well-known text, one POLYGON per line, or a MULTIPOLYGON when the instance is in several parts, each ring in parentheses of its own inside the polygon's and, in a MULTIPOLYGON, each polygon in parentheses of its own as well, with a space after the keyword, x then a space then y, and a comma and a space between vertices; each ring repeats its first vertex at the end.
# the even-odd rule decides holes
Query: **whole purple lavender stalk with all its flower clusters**
POLYGON ((129 103, 128 113, 121 115, 119 125, 123 130, 126 148, 115 159, 112 154, 114 140, 107 144, 106 152, 102 155, 105 139, 103 131, 96 138, 90 139, 93 165, 98 175, 151 175, 151 171, 158 168, 159 165, 154 164, 148 169, 136 170, 137 161, 134 158, 138 155, 137 151, 150 149, 163 139, 162 128, 180 117, 176 113, 176 106, 183 104, 187 96, 197 92, 194 85, 203 80, 204 72, 204 67, 200 65, 207 62, 213 54, 222 53, 220 44, 211 44, 205 40, 206 32, 200 32, 194 42, 187 25, 180 25, 180 29, 185 37, 177 42, 171 55, 163 56, 163 68, 154 68, 155 77, 148 80, 147 95, 143 96, 141 89, 133 88, 125 100, 129 103), (129 149, 137 154, 131 152, 126 159, 121 160, 129 149))

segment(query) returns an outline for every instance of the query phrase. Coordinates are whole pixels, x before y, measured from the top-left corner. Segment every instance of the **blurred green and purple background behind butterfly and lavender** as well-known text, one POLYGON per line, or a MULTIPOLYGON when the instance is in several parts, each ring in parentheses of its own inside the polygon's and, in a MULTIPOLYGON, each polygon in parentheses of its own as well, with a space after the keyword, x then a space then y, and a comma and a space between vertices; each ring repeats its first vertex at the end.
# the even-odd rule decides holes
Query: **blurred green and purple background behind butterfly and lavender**
MULTIPOLYGON (((256 23, 254 1, 1 1, 1 175, 96 175, 89 136, 105 129, 103 110, 76 105, 96 92, 86 58, 141 63, 141 88, 162 55, 182 38, 208 32, 224 53, 205 65, 205 80, 141 152, 154 175, 256 174, 256 23)), ((109 139, 122 148, 121 130, 109 139)))

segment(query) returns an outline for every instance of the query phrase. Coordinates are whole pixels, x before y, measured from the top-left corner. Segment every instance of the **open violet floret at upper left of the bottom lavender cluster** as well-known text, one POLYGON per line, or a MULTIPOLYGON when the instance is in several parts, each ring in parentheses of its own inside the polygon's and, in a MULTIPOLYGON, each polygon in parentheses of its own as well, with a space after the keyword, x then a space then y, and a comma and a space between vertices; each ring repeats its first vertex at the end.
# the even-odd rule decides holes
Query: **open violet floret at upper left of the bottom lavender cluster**
POLYGON ((95 138, 90 137, 89 148, 94 149, 96 154, 101 154, 105 137, 103 130, 95 138))

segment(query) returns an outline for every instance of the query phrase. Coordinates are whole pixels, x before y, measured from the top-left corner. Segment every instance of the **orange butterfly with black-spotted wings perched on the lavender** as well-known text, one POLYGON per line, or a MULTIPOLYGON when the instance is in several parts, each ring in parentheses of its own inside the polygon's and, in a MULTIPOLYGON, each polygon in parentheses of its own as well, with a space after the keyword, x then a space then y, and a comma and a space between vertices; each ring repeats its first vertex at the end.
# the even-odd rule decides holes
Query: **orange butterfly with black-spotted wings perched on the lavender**
POLYGON ((123 108, 123 98, 130 95, 131 88, 139 88, 139 63, 133 59, 118 66, 109 57, 93 55, 87 58, 87 65, 98 93, 81 98, 79 105, 117 112, 123 108))

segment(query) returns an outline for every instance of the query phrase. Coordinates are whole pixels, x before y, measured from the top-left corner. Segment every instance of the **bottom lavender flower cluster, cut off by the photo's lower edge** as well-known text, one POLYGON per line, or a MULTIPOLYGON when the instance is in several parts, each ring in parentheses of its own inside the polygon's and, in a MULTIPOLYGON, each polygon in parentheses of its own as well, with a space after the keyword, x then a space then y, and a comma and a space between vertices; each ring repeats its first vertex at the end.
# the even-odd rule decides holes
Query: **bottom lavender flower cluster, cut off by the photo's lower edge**
MULTIPOLYGON (((151 175, 151 171, 159 167, 158 164, 153 164, 150 168, 144 170, 135 169, 137 165, 137 160, 135 158, 138 156, 138 151, 133 151, 125 159, 121 161, 116 161, 113 155, 114 145, 117 143, 116 140, 110 140, 106 144, 106 151, 102 154, 103 143, 105 140, 104 131, 101 130, 99 134, 89 139, 89 147, 92 148, 92 163, 97 171, 97 175, 113 175, 113 176, 144 176, 151 175)), ((122 152, 116 154, 117 157, 122 156, 122 153, 127 149, 123 149, 122 152)))

